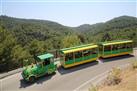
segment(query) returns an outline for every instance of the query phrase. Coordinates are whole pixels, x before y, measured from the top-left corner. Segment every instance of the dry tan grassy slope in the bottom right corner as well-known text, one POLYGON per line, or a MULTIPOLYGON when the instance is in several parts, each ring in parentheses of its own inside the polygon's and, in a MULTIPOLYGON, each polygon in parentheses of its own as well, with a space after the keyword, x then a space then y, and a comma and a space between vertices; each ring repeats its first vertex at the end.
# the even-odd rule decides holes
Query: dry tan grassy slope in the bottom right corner
POLYGON ((119 84, 111 86, 103 84, 98 91, 137 91, 137 69, 132 67, 124 69, 120 78, 122 81, 119 84))

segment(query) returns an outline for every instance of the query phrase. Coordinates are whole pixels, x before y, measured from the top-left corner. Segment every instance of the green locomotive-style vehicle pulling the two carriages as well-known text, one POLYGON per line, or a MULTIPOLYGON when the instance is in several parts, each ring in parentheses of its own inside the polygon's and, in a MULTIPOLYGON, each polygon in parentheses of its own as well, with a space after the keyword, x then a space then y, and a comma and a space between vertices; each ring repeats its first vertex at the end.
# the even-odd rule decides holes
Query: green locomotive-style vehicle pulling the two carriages
POLYGON ((29 82, 34 82, 36 78, 45 74, 52 74, 56 71, 56 64, 54 63, 54 55, 47 53, 37 56, 36 64, 24 67, 22 77, 29 82))

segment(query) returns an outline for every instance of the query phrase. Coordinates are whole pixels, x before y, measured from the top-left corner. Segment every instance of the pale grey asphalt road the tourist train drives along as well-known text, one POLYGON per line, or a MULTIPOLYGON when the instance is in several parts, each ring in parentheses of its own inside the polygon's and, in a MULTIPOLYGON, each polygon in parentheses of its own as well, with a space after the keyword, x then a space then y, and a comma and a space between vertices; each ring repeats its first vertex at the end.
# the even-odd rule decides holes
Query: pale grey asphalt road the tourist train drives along
MULTIPOLYGON (((137 50, 134 54, 137 55, 137 50)), ((70 69, 60 68, 56 74, 41 77, 34 84, 25 83, 21 73, 17 73, 0 80, 0 91, 74 91, 112 67, 131 63, 135 57, 125 55, 103 60, 103 63, 91 62, 70 69)))

